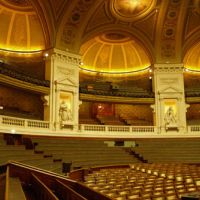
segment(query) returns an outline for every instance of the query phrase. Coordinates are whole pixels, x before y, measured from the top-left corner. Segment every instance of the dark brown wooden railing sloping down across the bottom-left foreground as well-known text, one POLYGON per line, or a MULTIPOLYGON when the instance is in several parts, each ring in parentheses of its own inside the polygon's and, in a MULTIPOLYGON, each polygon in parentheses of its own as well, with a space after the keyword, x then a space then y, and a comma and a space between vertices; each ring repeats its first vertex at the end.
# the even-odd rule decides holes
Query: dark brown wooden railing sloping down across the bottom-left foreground
MULTIPOLYGON (((70 180, 66 176, 13 161, 7 165, 6 184, 4 184, 6 200, 12 200, 9 198, 10 194, 13 193, 10 190, 9 181, 13 177, 18 178, 23 183, 23 188, 28 188, 27 191, 31 191, 31 194, 34 194, 37 200, 110 200, 101 193, 93 191, 79 182, 70 180)), ((5 179, 5 174, 2 179, 5 179)), ((17 198, 15 195, 15 200, 23 199, 21 197, 17 198)))

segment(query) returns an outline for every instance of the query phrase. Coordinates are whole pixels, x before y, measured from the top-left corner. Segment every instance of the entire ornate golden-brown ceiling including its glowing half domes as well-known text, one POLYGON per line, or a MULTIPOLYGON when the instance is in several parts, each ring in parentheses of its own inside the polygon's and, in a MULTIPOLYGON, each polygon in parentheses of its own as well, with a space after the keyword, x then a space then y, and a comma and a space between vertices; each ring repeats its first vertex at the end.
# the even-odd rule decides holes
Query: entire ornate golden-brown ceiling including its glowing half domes
POLYGON ((200 70, 200 0, 1 0, 0 19, 0 54, 55 47, 99 72, 200 70))

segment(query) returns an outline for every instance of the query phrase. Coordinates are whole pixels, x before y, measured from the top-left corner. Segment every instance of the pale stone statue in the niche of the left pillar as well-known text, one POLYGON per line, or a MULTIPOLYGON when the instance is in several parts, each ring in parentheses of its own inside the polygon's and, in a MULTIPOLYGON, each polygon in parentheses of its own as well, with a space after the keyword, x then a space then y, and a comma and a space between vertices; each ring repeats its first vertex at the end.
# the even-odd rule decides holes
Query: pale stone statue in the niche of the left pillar
POLYGON ((71 109, 68 108, 66 101, 62 101, 59 108, 60 122, 63 124, 65 121, 72 120, 71 109))

